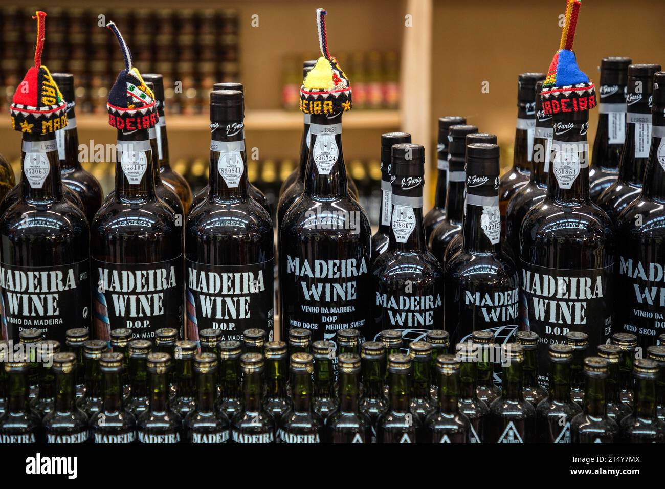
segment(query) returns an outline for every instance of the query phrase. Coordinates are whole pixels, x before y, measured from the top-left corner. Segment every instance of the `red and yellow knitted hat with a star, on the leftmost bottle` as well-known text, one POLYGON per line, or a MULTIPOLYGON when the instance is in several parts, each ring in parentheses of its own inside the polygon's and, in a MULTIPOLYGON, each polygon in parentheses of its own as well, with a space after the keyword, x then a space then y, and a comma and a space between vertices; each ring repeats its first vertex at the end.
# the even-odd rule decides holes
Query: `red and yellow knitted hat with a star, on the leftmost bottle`
POLYGON ((49 134, 67 125, 66 103, 49 69, 41 64, 46 13, 38 11, 35 66, 28 70, 12 98, 11 126, 21 132, 49 134))

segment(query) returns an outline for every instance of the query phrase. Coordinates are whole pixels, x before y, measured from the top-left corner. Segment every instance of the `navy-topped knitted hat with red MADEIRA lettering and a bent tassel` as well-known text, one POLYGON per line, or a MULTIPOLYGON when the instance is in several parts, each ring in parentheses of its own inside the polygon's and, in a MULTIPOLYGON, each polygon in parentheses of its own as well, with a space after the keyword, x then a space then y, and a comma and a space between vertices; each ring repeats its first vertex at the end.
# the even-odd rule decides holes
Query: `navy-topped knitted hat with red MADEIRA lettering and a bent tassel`
POLYGON ((132 53, 118 27, 112 22, 106 27, 118 38, 125 62, 125 69, 120 71, 108 92, 108 123, 119 130, 150 129, 158 121, 155 95, 144 83, 138 69, 132 66, 132 53))

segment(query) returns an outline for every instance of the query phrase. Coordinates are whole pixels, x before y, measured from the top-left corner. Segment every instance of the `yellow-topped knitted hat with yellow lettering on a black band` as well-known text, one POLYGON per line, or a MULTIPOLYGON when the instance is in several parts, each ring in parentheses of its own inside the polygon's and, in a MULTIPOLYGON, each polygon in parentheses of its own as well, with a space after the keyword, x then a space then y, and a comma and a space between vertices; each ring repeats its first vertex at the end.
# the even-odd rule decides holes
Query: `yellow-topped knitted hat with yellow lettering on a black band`
POLYGON ((351 84, 328 51, 327 13, 324 9, 317 9, 319 47, 323 56, 317 60, 300 88, 300 110, 305 114, 334 114, 351 110, 351 84))

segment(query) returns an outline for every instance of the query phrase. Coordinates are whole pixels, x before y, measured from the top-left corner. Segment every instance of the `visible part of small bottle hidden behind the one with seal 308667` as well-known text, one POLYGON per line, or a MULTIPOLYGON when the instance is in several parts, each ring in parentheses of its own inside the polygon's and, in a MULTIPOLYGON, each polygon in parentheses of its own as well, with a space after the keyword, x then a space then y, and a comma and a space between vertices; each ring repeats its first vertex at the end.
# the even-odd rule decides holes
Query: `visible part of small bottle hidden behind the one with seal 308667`
POLYGON ((378 229, 372 236, 372 257, 370 267, 381 253, 388 249, 390 240, 390 221, 392 220, 392 156, 394 144, 411 142, 408 132, 386 132, 381 134, 381 207, 379 209, 378 229))

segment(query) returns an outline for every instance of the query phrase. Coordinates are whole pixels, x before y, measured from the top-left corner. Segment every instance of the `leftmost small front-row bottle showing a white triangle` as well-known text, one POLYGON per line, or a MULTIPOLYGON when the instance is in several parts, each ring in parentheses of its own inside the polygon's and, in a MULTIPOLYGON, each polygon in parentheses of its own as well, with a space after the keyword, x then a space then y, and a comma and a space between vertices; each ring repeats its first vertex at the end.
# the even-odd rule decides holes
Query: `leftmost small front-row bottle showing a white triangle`
POLYGON ((326 441, 330 443, 371 443, 372 420, 360 410, 360 370, 362 361, 356 353, 340 353, 339 407, 326 421, 326 441))

